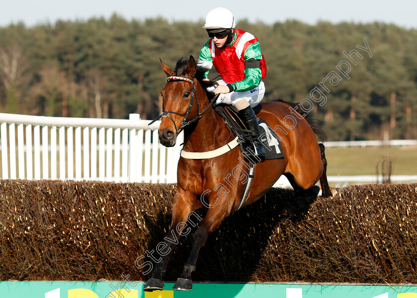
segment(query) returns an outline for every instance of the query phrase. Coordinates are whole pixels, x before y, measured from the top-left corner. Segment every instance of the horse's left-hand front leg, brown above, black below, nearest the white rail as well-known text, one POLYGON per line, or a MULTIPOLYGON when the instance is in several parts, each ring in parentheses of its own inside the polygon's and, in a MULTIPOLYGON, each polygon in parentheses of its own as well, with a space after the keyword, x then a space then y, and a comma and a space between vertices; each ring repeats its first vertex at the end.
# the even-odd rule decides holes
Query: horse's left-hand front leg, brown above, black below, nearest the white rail
POLYGON ((175 194, 172 204, 171 226, 169 227, 168 234, 164 238, 164 241, 158 243, 157 246, 159 247, 156 247, 156 250, 161 253, 158 255, 158 262, 155 265, 153 275, 143 287, 143 291, 162 291, 164 286, 162 277, 166 272, 169 257, 175 246, 178 244, 180 236, 185 235, 184 229, 187 228, 186 223, 188 218, 195 214, 193 212, 195 210, 195 207, 193 206, 195 198, 194 195, 185 193, 181 190, 177 191, 175 194))

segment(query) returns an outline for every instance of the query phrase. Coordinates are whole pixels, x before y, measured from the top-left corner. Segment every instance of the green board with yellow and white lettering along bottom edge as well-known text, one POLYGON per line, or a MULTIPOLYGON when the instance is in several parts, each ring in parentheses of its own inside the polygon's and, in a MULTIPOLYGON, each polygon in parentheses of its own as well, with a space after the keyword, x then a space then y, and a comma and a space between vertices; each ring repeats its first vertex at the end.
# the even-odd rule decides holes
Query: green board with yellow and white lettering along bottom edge
POLYGON ((0 282, 1 298, 417 298, 417 285, 215 284, 194 283, 193 291, 145 293, 143 282, 0 282))

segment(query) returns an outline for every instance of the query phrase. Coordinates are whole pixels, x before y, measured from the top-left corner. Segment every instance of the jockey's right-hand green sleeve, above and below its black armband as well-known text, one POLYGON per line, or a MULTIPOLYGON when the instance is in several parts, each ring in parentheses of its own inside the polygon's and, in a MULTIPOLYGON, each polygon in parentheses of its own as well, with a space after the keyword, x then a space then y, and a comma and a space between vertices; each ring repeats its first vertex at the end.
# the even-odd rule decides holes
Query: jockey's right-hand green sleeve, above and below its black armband
MULTIPOLYGON (((245 61, 249 59, 262 60, 262 52, 259 42, 250 45, 246 49, 244 57, 245 61)), ((261 80, 262 72, 260 68, 248 68, 245 69, 245 78, 241 81, 234 82, 231 85, 233 86, 234 91, 243 92, 257 87, 261 80)))

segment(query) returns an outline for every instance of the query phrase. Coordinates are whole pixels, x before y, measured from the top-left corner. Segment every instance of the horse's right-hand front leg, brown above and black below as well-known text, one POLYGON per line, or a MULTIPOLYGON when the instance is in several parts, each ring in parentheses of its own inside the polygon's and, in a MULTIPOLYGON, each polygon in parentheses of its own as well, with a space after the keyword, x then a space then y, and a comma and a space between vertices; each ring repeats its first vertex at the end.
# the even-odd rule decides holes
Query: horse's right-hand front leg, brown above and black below
MULTIPOLYGON (((226 200, 226 198, 222 200, 226 200)), ((215 207, 209 208, 203 222, 193 234, 193 247, 191 249, 190 257, 185 263, 184 271, 177 279, 177 282, 172 289, 180 291, 189 291, 193 289, 191 273, 196 270, 196 262, 200 249, 206 244, 209 234, 230 214, 230 209, 231 206, 227 206, 224 202, 218 202, 215 207)))

